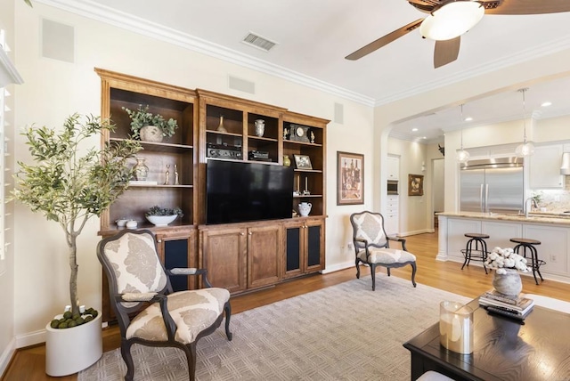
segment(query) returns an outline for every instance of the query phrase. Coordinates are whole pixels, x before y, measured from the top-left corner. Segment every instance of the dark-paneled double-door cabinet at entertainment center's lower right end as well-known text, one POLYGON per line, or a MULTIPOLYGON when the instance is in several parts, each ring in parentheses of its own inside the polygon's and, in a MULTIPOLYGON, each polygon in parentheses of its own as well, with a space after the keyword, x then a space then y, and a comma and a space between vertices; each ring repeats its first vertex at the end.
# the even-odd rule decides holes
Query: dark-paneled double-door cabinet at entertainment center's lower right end
POLYGON ((324 220, 299 217, 284 223, 283 279, 324 269, 324 220))

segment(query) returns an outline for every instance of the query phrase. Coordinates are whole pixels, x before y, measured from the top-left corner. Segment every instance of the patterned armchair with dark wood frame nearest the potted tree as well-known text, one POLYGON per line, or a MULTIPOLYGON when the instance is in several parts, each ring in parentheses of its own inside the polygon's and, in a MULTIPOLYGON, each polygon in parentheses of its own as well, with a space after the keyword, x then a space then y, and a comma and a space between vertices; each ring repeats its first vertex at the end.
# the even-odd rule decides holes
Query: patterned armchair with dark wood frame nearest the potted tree
POLYGON ((135 343, 181 348, 189 378, 194 380, 196 344, 221 325, 224 314, 225 333, 232 340, 228 290, 212 288, 204 269, 165 270, 151 231, 124 230, 102 239, 97 256, 109 280, 110 302, 118 318, 126 380, 134 377, 131 346, 135 343), (201 276, 207 288, 173 292, 169 276, 174 275, 201 276))

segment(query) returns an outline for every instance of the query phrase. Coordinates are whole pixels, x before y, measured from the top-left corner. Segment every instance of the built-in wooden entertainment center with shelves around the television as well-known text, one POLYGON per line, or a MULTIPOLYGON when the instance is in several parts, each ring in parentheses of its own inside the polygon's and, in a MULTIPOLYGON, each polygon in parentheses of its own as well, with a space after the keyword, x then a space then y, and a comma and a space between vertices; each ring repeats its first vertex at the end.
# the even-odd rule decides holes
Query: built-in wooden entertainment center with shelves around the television
MULTIPOLYGON (((288 109, 206 90, 95 69, 102 80, 102 118, 116 125, 102 136, 102 144, 128 139, 130 118, 122 109, 149 105, 149 111, 174 118, 178 129, 163 142, 142 142, 137 157, 145 158, 148 180, 156 184, 130 186, 101 218, 103 237, 113 235, 116 221, 137 221, 137 229, 156 234, 159 257, 167 268, 205 267, 216 287, 233 294, 264 288, 283 280, 318 272, 325 263, 325 159, 329 120, 288 109), (265 121, 263 136, 255 121, 265 121), (218 128, 220 125, 224 128, 218 128), (253 151, 253 153, 252 153, 253 151), (258 155, 261 155, 260 158, 258 155), (310 167, 296 166, 294 155, 310 158, 310 167), (283 166, 288 157, 294 170, 293 210, 312 204, 306 217, 246 223, 206 224, 206 167, 208 160, 240 160, 283 166), (174 168, 178 173, 175 183, 174 168), (166 171, 169 172, 168 182, 166 171), (184 216, 166 227, 146 222, 152 206, 182 207, 184 216)), ((103 320, 113 320, 103 278, 103 320)), ((175 289, 195 288, 176 280, 175 289)))

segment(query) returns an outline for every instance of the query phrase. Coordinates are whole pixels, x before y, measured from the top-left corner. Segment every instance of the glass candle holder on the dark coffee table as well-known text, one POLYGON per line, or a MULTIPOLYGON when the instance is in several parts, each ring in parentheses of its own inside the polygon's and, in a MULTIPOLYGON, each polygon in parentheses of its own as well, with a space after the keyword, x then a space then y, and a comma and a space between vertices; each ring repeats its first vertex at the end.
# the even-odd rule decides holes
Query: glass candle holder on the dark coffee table
POLYGON ((456 353, 473 353, 473 309, 458 302, 439 304, 440 343, 456 353))

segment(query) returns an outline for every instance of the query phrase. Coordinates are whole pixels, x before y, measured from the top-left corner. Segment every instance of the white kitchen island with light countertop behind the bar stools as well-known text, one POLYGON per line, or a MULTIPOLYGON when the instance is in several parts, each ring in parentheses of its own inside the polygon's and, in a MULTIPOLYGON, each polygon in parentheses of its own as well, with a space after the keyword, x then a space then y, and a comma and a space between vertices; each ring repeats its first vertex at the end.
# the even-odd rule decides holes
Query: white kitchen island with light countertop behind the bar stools
MULTIPOLYGON (((463 263, 461 250, 468 238, 465 233, 485 233, 487 249, 493 247, 514 247, 511 238, 538 239, 539 259, 546 262, 541 266, 542 277, 570 283, 570 214, 563 212, 531 213, 528 217, 517 214, 495 213, 439 213, 437 260, 463 263)), ((482 263, 472 262, 470 265, 482 263)), ((458 267, 458 270, 460 266, 458 267)), ((532 276, 532 273, 528 273, 532 276)))

